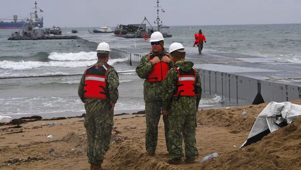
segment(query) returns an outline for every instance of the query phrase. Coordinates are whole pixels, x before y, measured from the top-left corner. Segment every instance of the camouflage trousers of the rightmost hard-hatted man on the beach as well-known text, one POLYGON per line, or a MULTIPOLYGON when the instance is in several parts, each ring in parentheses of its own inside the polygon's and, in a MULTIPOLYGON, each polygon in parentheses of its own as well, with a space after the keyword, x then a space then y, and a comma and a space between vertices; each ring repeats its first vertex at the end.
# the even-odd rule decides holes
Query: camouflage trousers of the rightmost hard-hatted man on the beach
POLYGON ((172 116, 169 115, 169 144, 170 156, 175 158, 182 157, 182 141, 184 138, 186 157, 199 155, 196 144, 196 115, 172 116))

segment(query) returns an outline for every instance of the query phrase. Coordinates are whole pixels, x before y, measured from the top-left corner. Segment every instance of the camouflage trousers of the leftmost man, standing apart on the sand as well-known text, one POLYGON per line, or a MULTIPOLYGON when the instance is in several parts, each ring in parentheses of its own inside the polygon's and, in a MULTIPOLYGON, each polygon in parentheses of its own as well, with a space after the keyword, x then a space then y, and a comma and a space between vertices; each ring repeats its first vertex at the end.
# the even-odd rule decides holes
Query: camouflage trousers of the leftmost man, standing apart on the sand
POLYGON ((113 113, 110 105, 101 108, 85 105, 86 116, 84 126, 87 131, 87 156, 90 164, 101 164, 106 151, 109 149, 113 113))

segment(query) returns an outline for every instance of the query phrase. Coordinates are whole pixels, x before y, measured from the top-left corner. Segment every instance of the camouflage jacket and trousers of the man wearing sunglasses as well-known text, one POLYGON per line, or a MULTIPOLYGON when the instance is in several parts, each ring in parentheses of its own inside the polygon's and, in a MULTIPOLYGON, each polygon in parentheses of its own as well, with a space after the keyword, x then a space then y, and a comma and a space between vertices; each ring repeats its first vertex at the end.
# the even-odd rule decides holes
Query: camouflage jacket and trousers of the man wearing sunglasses
MULTIPOLYGON (((161 54, 156 54, 151 51, 154 56, 158 56, 160 59, 166 55, 165 49, 161 54)), ((173 67, 173 62, 168 63, 170 67, 173 67)), ((143 56, 137 67, 136 73, 141 79, 145 79, 147 75, 152 71, 153 66, 148 61, 148 54, 143 56)), ((146 131, 145 131, 145 147, 146 150, 156 150, 158 140, 158 124, 162 111, 162 82, 148 82, 146 79, 143 84, 143 95, 145 101, 145 118, 146 118, 146 131)), ((167 150, 169 150, 168 142, 168 117, 163 116, 165 140, 167 150)))

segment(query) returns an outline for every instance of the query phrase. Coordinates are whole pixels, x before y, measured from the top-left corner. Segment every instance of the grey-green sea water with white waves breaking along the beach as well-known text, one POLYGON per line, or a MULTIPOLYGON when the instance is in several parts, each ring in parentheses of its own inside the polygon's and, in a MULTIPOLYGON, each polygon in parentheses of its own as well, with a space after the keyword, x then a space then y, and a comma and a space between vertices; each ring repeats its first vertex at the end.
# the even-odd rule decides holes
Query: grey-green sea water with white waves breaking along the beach
MULTIPOLYGON (((93 28, 63 28, 63 34, 78 30, 87 36, 93 28)), ((202 29, 207 38, 204 52, 234 52, 301 62, 301 24, 232 25, 232 26, 171 26, 172 38, 165 43, 179 42, 188 53, 193 47, 194 33, 202 29)), ((0 30, 0 78, 45 75, 82 74, 87 65, 96 61, 95 49, 77 40, 8 41, 12 32, 0 30)), ((104 41, 110 39, 107 35, 104 41)), ((118 47, 118 41, 111 47, 118 47)), ((168 48, 168 46, 167 46, 168 48)), ((127 59, 112 56, 109 64, 117 72, 134 71, 127 59)), ((0 79, 0 115, 49 114, 84 112, 77 95, 81 76, 0 79)), ((143 80, 135 73, 119 74, 119 100, 116 113, 144 109, 143 80)), ((203 96, 200 107, 221 107, 220 96, 203 96)))

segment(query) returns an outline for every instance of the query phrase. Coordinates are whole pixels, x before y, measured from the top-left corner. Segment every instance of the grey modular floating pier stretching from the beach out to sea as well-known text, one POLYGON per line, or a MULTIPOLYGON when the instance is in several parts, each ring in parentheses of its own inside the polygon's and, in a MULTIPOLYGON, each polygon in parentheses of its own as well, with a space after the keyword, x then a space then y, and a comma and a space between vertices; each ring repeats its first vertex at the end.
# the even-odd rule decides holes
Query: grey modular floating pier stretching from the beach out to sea
MULTIPOLYGON (((96 49, 97 43, 94 46, 96 49)), ((236 53, 199 55, 197 49, 187 49, 195 51, 188 52, 186 59, 195 63, 203 93, 219 95, 225 103, 246 105, 301 99, 301 63, 236 53)), ((113 47, 111 51, 111 56, 127 57, 129 64, 135 66, 150 51, 150 45, 141 41, 138 47, 113 47)))

